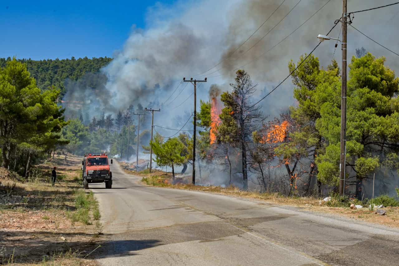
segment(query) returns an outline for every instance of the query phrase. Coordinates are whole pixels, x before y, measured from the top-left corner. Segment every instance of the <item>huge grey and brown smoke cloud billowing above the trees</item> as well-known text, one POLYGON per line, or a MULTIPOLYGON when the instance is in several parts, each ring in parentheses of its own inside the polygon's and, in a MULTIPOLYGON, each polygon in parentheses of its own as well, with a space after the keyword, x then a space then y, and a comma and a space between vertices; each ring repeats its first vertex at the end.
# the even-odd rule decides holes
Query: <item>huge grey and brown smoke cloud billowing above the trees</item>
MULTIPOLYGON (((296 63, 300 55, 313 50, 318 44, 316 36, 326 34, 342 15, 342 1, 338 0, 331 0, 328 4, 327 0, 301 1, 289 14, 298 0, 285 0, 279 7, 281 2, 200 0, 180 1, 172 6, 156 4, 148 10, 146 28, 132 28, 123 48, 115 53, 113 61, 101 69, 101 73, 88 74, 78 82, 67 81, 67 94, 63 100, 81 104, 67 108, 67 115, 79 115, 83 110, 84 113, 89 112, 91 119, 99 112, 115 114, 130 105, 141 103, 143 107, 161 109, 154 115, 154 124, 164 127, 184 125, 194 110, 192 85, 182 83, 182 78, 208 78, 207 83, 197 87, 199 102, 199 99, 208 99, 210 95, 230 90, 229 83, 234 82, 235 76, 233 69, 243 66, 253 83, 258 84, 254 99, 257 101, 289 74, 288 62, 293 60, 296 63), (306 24, 267 52, 324 4, 326 6, 306 24), (237 50, 277 7, 269 21, 237 50), (277 25, 284 16, 286 18, 277 25), (219 62, 218 66, 212 67, 219 62)), ((391 3, 390 0, 348 2, 349 12, 391 3)), ((399 37, 391 34, 397 31, 399 24, 397 8, 371 12, 356 14, 353 25, 381 44, 398 51, 399 37)), ((340 25, 330 36, 342 38, 340 25)), ((340 46, 334 46, 335 41, 326 41, 315 51, 321 66, 326 67, 333 59, 340 64, 340 46)), ((349 27, 348 62, 356 55, 356 48, 360 47, 374 56, 385 56, 385 64, 399 72, 396 57, 349 27)), ((293 85, 288 79, 261 102, 263 113, 273 119, 294 105, 292 92, 293 85)), ((191 126, 192 123, 187 123, 184 129, 192 129, 191 126)), ((168 129, 157 130, 166 136, 176 133, 168 129)))

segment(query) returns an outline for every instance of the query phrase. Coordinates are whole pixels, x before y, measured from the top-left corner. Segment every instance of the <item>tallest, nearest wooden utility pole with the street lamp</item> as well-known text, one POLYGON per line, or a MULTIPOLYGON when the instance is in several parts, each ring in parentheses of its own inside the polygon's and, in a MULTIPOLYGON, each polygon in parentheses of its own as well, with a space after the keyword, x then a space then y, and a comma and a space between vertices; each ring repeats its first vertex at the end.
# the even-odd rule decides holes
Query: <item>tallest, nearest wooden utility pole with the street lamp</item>
POLYGON ((347 0, 342 5, 342 87, 341 87, 341 143, 340 143, 340 195, 344 195, 346 153, 346 47, 347 47, 347 0))

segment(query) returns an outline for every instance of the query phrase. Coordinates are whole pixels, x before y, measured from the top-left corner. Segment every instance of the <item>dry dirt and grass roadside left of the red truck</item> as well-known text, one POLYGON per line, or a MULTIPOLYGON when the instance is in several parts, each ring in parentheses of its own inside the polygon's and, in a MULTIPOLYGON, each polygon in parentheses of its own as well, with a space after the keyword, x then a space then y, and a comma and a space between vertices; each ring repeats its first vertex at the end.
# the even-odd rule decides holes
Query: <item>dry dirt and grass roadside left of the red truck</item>
POLYGON ((100 244, 98 203, 80 188, 80 167, 79 157, 58 157, 29 179, 0 168, 0 264, 98 265, 89 255, 100 244))

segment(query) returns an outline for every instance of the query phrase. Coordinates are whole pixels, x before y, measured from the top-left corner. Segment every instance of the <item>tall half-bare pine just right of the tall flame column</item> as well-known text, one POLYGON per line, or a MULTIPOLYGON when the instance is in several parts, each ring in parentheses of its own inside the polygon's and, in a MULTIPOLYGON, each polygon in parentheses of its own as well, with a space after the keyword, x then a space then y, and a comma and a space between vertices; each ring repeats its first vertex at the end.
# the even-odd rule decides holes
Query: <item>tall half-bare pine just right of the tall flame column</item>
POLYGON ((231 83, 232 92, 224 92, 221 101, 224 104, 221 115, 221 125, 218 135, 225 143, 239 149, 242 161, 243 189, 248 189, 248 151, 252 132, 257 124, 263 121, 258 106, 251 106, 251 97, 256 91, 251 77, 244 70, 236 72, 235 83, 231 83))

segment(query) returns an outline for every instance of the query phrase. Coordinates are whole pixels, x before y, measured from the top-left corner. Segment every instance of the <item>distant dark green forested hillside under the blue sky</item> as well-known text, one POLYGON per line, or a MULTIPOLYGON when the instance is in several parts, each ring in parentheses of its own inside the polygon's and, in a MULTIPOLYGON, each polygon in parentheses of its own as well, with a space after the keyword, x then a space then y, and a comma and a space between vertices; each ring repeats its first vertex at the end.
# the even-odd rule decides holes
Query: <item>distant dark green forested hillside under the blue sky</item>
MULTIPOLYGON (((9 58, 0 58, 0 67, 5 67, 6 62, 11 61, 9 58)), ((61 90, 61 95, 65 94, 65 79, 77 80, 85 73, 95 73, 101 67, 111 62, 112 58, 100 57, 89 59, 55 59, 55 60, 31 60, 18 59, 19 62, 26 63, 29 73, 36 79, 36 84, 40 89, 47 89, 54 85, 61 90)))

